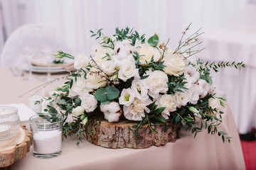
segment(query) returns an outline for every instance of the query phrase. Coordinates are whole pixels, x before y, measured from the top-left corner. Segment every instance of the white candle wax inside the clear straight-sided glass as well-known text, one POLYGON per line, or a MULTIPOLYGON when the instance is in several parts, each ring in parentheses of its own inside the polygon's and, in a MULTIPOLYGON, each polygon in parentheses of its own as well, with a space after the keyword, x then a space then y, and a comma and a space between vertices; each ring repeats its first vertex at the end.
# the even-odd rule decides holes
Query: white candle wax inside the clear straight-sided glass
POLYGON ((38 154, 54 154, 61 150, 61 130, 38 131, 33 134, 33 151, 38 154))

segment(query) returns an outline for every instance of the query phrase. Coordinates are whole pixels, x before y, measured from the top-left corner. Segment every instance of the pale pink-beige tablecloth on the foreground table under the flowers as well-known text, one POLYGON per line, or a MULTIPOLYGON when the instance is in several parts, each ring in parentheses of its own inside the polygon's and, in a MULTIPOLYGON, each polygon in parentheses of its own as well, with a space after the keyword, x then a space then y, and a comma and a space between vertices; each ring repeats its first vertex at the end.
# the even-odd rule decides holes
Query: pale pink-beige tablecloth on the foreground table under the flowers
MULTIPOLYGON (((20 94, 43 84, 43 81, 23 81, 11 71, 0 68, 1 104, 25 103, 33 92, 17 98, 20 94)), ((50 84, 57 86, 62 82, 50 84)), ((40 93, 40 91, 38 92, 40 93)), ((245 169, 238 131, 230 108, 225 108, 220 128, 233 137, 233 142, 223 144, 218 135, 209 135, 207 130, 193 138, 191 132, 181 130, 176 142, 147 149, 106 149, 84 140, 76 146, 77 137, 68 137, 63 142, 63 153, 53 159, 38 159, 33 152, 16 162, 11 169, 245 169)))

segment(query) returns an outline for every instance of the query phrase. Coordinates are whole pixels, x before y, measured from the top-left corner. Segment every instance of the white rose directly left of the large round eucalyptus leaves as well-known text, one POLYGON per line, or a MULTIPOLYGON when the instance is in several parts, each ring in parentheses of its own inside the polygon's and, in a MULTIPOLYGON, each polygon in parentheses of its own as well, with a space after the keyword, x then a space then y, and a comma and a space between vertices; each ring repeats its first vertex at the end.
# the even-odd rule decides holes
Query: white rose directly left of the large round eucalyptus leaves
POLYGON ((88 94, 85 92, 80 95, 80 99, 82 101, 81 106, 85 109, 87 113, 90 113, 94 111, 95 108, 97 108, 97 100, 92 94, 88 94))

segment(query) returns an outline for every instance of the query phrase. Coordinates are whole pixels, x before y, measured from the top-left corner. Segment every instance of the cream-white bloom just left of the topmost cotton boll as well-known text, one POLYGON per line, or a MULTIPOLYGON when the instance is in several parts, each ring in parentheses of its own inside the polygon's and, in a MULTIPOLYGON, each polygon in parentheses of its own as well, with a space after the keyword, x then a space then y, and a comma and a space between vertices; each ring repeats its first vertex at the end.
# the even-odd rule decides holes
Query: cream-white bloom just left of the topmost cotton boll
POLYGON ((92 48, 92 51, 90 52, 90 55, 92 56, 93 60, 97 63, 98 66, 101 66, 103 62, 106 62, 109 57, 107 54, 110 55, 110 59, 112 58, 112 55, 114 55, 114 50, 112 50, 109 47, 102 47, 102 46, 96 46, 95 49, 92 48))

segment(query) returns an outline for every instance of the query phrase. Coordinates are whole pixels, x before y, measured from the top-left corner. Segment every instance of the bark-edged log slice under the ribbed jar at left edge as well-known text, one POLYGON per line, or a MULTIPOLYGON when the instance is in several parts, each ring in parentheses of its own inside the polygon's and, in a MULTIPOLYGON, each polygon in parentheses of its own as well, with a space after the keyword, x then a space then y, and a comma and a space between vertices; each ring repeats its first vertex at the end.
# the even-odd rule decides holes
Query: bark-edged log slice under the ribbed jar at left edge
POLYGON ((26 130, 25 125, 21 125, 24 131, 23 140, 18 145, 14 145, 11 149, 0 151, 0 169, 9 169, 11 164, 14 164, 19 159, 26 157, 31 145, 33 144, 31 131, 26 130))

